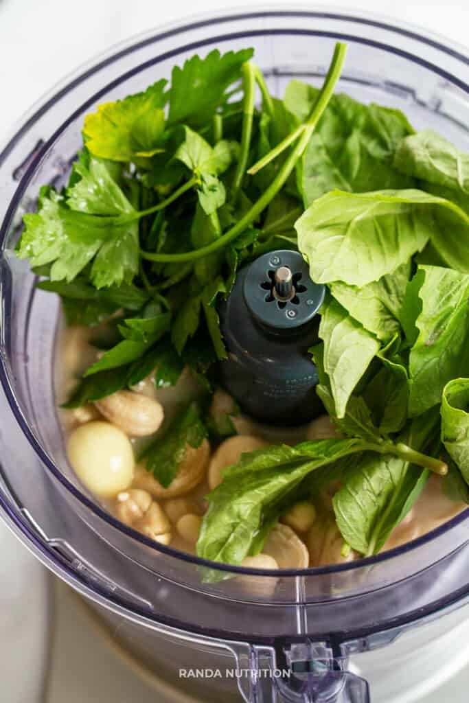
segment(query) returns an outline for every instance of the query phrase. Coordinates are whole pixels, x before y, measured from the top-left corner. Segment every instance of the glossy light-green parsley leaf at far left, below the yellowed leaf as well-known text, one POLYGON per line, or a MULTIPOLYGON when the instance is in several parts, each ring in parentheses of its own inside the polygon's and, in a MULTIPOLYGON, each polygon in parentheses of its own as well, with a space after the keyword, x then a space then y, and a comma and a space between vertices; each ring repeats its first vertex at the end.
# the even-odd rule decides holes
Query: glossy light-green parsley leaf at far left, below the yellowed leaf
POLYGON ((66 204, 53 188, 41 190, 39 212, 24 217, 18 256, 30 259, 31 266, 52 264, 52 281, 70 283, 93 259, 90 278, 96 288, 131 283, 139 270, 139 226, 119 224, 115 216, 133 214, 134 207, 104 162, 82 157, 74 174, 66 204))

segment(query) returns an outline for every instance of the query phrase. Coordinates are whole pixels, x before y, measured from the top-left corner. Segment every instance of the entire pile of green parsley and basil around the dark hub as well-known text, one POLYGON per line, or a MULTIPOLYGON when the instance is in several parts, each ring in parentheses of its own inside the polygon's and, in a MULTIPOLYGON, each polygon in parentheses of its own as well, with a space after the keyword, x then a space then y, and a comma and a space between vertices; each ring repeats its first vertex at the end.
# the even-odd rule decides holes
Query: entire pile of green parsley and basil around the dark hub
MULTIPOLYGON (((184 366, 210 390, 226 356, 217 303, 259 254, 298 248, 327 285, 311 354, 344 439, 229 467, 198 542, 211 560, 259 552, 285 506, 331 477, 338 527, 364 555, 431 470, 449 467, 451 495, 468 497, 469 156, 399 110, 333 94, 344 58, 338 44, 321 89, 293 80, 279 99, 250 49, 194 56, 170 84, 87 115, 68 185, 42 188, 25 215, 18 255, 39 287, 62 297, 69 323, 111 319, 115 333, 69 407, 150 373, 172 385, 184 366)), ((163 484, 191 418, 200 443, 192 408, 148 450, 163 484)))

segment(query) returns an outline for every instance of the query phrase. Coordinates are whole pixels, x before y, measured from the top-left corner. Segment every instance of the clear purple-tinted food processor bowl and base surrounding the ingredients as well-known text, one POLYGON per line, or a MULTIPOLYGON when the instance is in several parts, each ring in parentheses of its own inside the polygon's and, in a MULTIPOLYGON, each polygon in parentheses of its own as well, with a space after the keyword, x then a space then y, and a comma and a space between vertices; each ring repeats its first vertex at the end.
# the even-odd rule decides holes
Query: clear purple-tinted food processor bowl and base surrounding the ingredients
POLYGON ((56 408, 56 297, 15 258, 39 186, 60 187, 86 112, 198 52, 255 48, 269 89, 319 85, 347 41, 336 90, 403 110, 469 151, 463 50, 373 15, 256 8, 148 32, 82 67, 0 152, 0 508, 41 562, 89 600, 163 680, 203 701, 411 703, 469 661, 469 512, 375 557, 302 571, 204 562, 121 524, 79 484, 56 408))

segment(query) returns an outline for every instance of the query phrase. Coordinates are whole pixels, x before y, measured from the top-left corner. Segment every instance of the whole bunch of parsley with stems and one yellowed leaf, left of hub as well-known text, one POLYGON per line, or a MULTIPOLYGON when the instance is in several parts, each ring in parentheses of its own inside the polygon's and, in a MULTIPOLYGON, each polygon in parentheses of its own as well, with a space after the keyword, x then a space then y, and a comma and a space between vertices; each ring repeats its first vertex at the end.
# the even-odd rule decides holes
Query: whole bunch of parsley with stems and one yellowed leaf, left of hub
POLYGON ((157 385, 175 382, 186 363, 210 382, 207 370, 226 357, 217 304, 238 266, 296 246, 302 196, 293 172, 345 51, 336 45, 300 126, 270 95, 251 49, 193 56, 174 67, 170 84, 86 115, 67 186, 41 190, 18 246, 45 276, 41 288, 63 298, 69 323, 113 316, 113 346, 86 371, 71 406, 144 372, 157 385))

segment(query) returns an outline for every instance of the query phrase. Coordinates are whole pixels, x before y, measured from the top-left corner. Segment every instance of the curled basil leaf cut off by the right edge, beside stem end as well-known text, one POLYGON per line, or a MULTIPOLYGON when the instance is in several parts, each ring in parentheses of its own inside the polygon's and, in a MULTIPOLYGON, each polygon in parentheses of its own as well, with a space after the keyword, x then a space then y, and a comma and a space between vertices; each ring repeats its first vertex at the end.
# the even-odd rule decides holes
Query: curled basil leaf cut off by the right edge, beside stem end
POLYGON ((446 384, 441 413, 442 441, 469 484, 469 378, 446 384))

